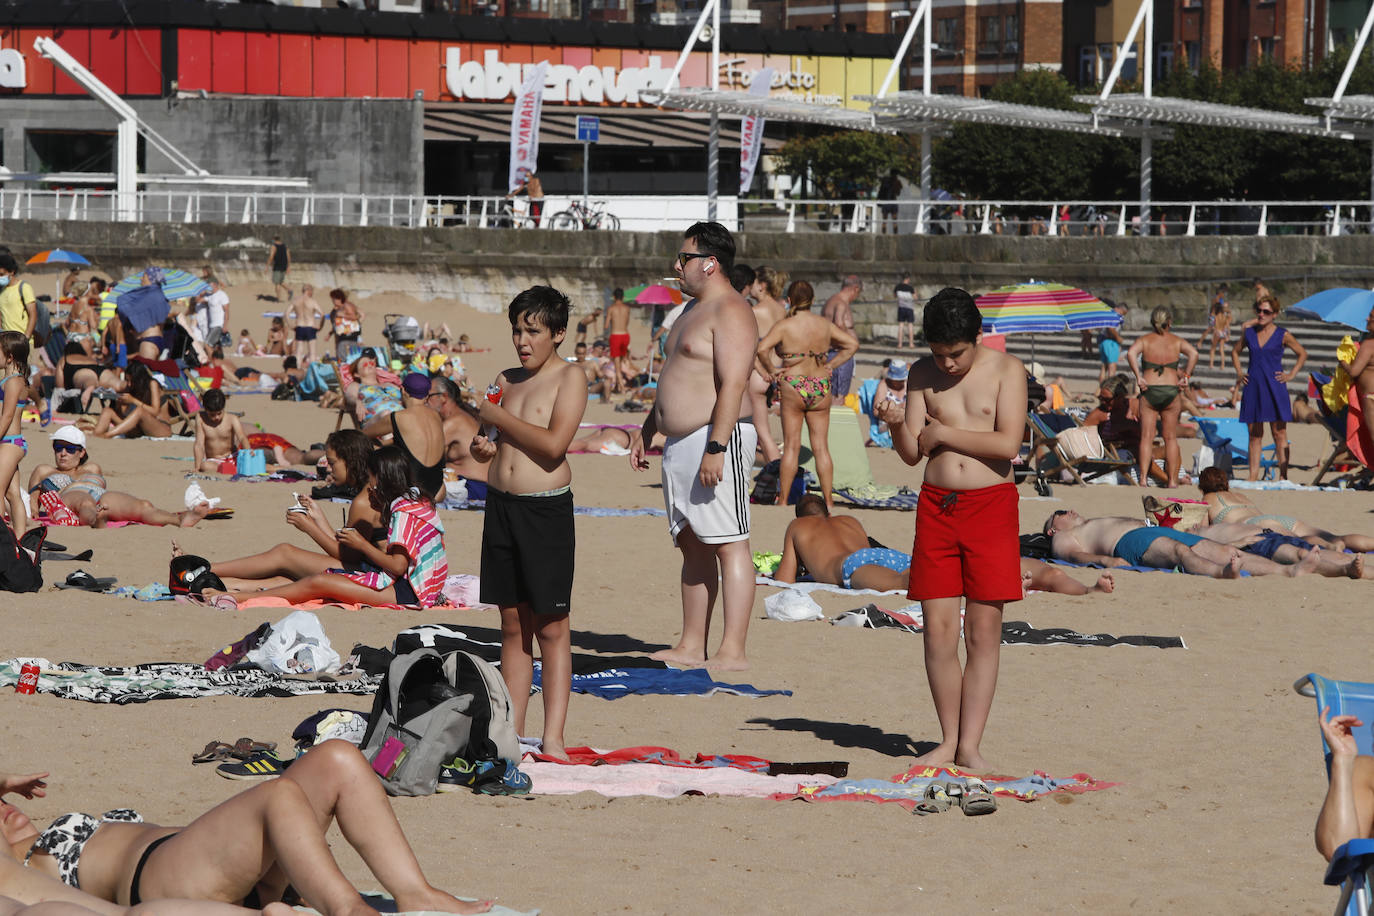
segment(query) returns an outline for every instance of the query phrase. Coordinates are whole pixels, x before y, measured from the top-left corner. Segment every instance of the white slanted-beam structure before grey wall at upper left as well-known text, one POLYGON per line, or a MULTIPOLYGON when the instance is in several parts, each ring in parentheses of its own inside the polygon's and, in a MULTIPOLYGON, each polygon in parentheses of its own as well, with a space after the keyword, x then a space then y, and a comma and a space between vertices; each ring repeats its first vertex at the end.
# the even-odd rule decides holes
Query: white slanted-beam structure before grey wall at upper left
POLYGON ((107 87, 93 73, 81 65, 76 58, 63 49, 52 38, 38 36, 33 40, 33 49, 71 77, 92 99, 110 108, 120 119, 118 133, 114 147, 114 174, 102 173, 52 173, 43 176, 44 181, 60 181, 62 184, 106 184, 114 180, 115 220, 132 222, 137 220, 137 188, 144 184, 199 184, 199 185, 253 185, 273 188, 308 188, 309 179, 271 179, 260 176, 217 176, 210 174, 184 152, 177 150, 161 133, 148 126, 133 107, 125 102, 120 93, 107 87), (137 137, 142 135, 158 152, 165 155, 172 163, 181 169, 181 174, 144 174, 139 176, 139 147, 137 137))

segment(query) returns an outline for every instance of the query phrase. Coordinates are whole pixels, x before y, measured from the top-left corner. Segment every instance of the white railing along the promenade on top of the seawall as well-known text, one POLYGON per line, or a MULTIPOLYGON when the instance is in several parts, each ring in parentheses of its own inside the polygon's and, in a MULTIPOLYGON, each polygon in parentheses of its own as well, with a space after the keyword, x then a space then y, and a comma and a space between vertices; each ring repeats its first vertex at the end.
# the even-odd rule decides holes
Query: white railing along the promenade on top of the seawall
MULTIPOLYGON (((550 195, 540 229, 580 195, 550 195)), ((621 229, 658 232, 705 220, 705 195, 595 198, 621 229)), ((500 196, 404 196, 302 194, 256 190, 143 190, 140 222, 356 225, 401 228, 533 228, 523 199, 500 196)), ((0 218, 114 221, 114 192, 104 188, 38 190, 0 185, 0 218)), ((871 198, 719 198, 716 218, 756 232, 897 232, 901 235, 1024 235, 1044 238, 1131 235, 1369 235, 1367 201, 1160 201, 1140 218, 1138 202, 1120 201, 929 201, 896 202, 896 216, 871 198)))

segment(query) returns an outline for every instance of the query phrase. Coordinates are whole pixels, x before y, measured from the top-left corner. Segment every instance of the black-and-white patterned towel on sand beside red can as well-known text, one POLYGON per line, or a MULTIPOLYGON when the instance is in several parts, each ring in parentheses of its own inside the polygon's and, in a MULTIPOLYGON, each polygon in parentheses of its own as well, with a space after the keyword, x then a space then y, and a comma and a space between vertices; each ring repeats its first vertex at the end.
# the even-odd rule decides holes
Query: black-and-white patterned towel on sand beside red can
POLYGON ((196 696, 302 696, 305 694, 375 694, 382 678, 356 676, 348 680, 308 680, 268 674, 258 669, 217 672, 203 665, 155 662, 148 665, 78 665, 47 659, 11 658, 0 662, 0 688, 12 688, 23 662, 43 669, 38 692, 88 703, 146 703, 196 696))

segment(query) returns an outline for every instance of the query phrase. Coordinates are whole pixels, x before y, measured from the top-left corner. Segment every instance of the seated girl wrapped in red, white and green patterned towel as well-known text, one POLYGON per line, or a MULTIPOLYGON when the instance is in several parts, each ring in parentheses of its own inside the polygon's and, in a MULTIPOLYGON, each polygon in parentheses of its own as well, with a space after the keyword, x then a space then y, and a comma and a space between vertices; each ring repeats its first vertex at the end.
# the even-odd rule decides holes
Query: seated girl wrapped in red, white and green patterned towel
POLYGON ((253 596, 284 597, 293 604, 311 599, 365 606, 434 607, 442 603, 448 558, 444 553, 444 526, 434 504, 414 489, 405 453, 394 445, 372 452, 367 470, 365 492, 372 508, 382 515, 387 542, 378 547, 356 527, 342 527, 335 536, 341 551, 346 548, 361 556, 364 563, 360 570, 333 567, 261 592, 206 589, 205 597, 225 608, 238 607, 238 599, 253 596))

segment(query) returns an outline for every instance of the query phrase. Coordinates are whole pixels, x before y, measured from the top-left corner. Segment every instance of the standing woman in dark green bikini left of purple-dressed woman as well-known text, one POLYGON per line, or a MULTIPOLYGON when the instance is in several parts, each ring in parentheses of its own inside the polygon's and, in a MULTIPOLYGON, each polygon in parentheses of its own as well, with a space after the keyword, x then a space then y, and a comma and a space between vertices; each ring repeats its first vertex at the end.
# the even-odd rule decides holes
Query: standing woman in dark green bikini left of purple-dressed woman
POLYGON ((1189 383, 1198 352, 1191 343, 1173 334, 1173 313, 1162 305, 1150 312, 1153 331, 1136 338, 1125 358, 1135 372, 1140 386, 1140 448, 1136 457, 1140 464, 1140 486, 1150 483, 1150 461, 1154 453, 1154 430, 1158 420, 1164 437, 1165 486, 1178 486, 1179 466, 1183 457, 1179 452, 1179 413, 1183 398, 1179 391, 1189 383), (1179 354, 1187 357, 1187 365, 1179 374, 1179 354))

